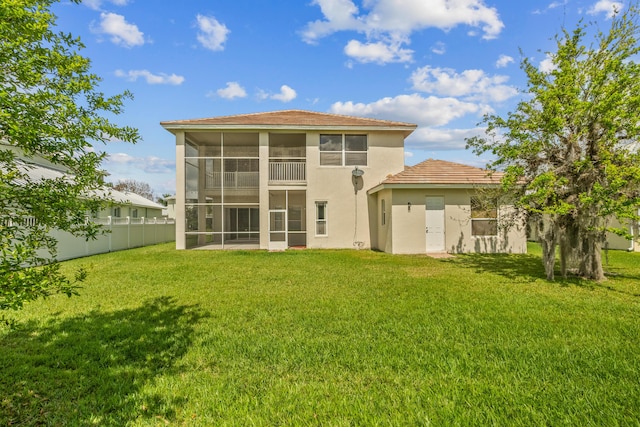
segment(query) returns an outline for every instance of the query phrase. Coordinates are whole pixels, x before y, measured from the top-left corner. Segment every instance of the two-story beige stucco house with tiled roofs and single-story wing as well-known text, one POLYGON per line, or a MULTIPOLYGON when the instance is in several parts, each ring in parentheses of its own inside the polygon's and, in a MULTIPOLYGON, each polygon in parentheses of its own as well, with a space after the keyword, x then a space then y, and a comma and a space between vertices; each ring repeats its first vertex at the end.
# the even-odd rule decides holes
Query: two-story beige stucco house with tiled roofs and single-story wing
POLYGON ((414 124, 287 110, 161 125, 176 137, 177 249, 526 250, 524 233, 492 234, 500 218, 472 220, 476 186, 495 185, 485 171, 447 163, 478 179, 402 182, 423 170, 404 167, 414 124))

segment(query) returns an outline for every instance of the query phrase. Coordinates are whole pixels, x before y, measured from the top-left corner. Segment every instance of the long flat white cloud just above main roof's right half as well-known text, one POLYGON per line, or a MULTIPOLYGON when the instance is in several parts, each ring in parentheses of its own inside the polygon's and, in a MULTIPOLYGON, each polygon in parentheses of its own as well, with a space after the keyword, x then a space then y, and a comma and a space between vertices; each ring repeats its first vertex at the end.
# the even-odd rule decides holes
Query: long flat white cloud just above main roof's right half
POLYGON ((467 114, 492 112, 484 104, 460 101, 455 98, 423 97, 420 94, 382 98, 370 104, 336 102, 330 111, 360 117, 378 117, 416 123, 419 126, 443 126, 467 114))

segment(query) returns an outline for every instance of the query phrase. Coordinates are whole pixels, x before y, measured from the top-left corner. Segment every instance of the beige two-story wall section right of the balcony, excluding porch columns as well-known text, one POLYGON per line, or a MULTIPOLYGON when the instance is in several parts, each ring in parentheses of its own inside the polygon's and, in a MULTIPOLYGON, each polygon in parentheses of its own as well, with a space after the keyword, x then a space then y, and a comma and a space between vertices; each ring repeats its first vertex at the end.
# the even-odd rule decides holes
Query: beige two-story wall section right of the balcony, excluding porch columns
POLYGON ((371 248, 372 234, 379 234, 375 231, 374 208, 370 206, 367 190, 387 175, 404 169, 403 135, 366 132, 367 166, 358 167, 364 175, 354 180, 354 166, 320 166, 320 133, 336 132, 307 133, 307 247, 371 248), (318 201, 327 202, 327 236, 315 235, 315 204, 318 201))

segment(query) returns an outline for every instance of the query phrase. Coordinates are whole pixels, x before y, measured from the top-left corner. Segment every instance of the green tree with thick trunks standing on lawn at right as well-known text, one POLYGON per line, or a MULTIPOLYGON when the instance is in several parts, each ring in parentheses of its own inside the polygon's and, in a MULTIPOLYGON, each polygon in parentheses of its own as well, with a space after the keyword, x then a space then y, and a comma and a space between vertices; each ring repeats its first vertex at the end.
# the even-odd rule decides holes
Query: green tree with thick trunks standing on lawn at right
POLYGON ((638 220, 640 206, 640 68, 637 4, 616 14, 608 32, 580 22, 556 36, 552 71, 527 58, 524 100, 506 118, 486 116, 486 136, 467 140, 489 166, 505 172, 503 188, 541 227, 546 276, 554 277, 556 247, 562 274, 571 260, 579 276, 605 278, 601 246, 611 224, 638 220), (589 40, 591 40, 590 43, 589 40), (542 218, 544 219, 542 221, 542 218))

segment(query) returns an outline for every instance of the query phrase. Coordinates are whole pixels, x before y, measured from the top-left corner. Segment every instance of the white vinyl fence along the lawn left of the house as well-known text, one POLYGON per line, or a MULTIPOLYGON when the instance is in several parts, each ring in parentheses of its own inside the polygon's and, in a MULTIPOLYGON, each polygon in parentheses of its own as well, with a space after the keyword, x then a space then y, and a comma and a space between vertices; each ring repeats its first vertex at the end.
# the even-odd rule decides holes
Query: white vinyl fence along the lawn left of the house
POLYGON ((176 239, 176 223, 173 219, 107 217, 93 221, 102 224, 109 232, 88 241, 64 231, 51 232, 58 241, 58 260, 173 242, 176 239))

